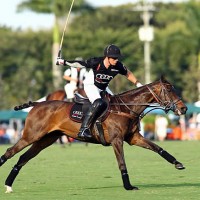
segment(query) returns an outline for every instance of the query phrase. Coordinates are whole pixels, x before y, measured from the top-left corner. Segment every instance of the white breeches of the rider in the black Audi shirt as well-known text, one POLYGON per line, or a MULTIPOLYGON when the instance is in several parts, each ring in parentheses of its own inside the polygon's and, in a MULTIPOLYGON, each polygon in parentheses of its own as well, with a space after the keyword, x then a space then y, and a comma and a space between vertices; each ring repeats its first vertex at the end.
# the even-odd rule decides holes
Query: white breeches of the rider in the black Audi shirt
MULTIPOLYGON (((93 103, 96 99, 101 98, 100 92, 102 90, 100 90, 99 88, 97 88, 94 84, 85 84, 84 85, 84 90, 85 93, 88 97, 88 99, 90 100, 91 103, 93 103)), ((106 91, 113 95, 113 93, 111 92, 111 90, 107 87, 106 91)))

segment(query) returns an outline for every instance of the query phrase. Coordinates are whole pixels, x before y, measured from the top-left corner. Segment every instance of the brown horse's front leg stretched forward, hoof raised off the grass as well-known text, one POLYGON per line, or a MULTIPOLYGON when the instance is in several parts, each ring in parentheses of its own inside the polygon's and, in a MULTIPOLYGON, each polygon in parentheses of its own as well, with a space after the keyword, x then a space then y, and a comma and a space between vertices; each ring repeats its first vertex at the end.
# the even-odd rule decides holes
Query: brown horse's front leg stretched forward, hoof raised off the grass
POLYGON ((178 162, 176 158, 174 158, 167 151, 163 150, 160 146, 151 142, 150 140, 144 138, 140 133, 134 133, 132 140, 129 142, 130 145, 140 146, 149 150, 152 150, 162 156, 169 163, 174 164, 176 169, 185 169, 182 163, 178 162))

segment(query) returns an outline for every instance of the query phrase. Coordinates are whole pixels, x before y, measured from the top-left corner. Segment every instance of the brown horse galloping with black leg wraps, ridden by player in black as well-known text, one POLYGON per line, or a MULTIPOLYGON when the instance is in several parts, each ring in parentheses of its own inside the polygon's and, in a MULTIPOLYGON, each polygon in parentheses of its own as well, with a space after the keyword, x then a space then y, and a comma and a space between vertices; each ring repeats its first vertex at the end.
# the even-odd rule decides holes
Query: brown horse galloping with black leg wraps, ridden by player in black
MULTIPOLYGON (((15 110, 20 110, 33 106, 26 118, 21 139, 0 157, 0 166, 25 147, 29 145, 31 147, 19 157, 18 162, 8 175, 5 181, 7 193, 12 192, 13 182, 21 168, 43 149, 52 145, 61 135, 65 134, 79 140, 78 131, 81 123, 70 118, 72 105, 74 105, 72 102, 44 101, 29 102, 15 107, 15 110)), ((142 87, 110 96, 107 116, 102 121, 105 142, 114 150, 123 187, 126 190, 138 190, 138 187, 133 186, 129 180, 123 150, 124 142, 158 153, 178 170, 185 169, 184 165, 174 156, 140 134, 141 115, 150 106, 162 107, 166 112, 171 110, 178 116, 187 111, 186 105, 177 95, 174 86, 161 77, 159 80, 142 87)), ((82 140, 102 144, 94 125, 91 127, 91 132, 93 135, 91 140, 82 140)))

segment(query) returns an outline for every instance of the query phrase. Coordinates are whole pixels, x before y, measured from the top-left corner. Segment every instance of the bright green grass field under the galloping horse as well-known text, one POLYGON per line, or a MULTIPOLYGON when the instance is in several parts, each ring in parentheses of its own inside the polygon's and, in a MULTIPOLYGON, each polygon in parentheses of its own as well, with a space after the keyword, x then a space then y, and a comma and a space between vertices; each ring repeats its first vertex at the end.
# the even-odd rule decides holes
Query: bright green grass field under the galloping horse
MULTIPOLYGON (((200 199, 200 143, 157 142, 182 162, 179 171, 154 152, 125 144, 131 183, 140 190, 122 187, 112 147, 54 144, 27 163, 5 194, 4 182, 21 153, 0 168, 1 200, 189 200, 200 199)), ((0 146, 0 155, 8 148, 0 146)))

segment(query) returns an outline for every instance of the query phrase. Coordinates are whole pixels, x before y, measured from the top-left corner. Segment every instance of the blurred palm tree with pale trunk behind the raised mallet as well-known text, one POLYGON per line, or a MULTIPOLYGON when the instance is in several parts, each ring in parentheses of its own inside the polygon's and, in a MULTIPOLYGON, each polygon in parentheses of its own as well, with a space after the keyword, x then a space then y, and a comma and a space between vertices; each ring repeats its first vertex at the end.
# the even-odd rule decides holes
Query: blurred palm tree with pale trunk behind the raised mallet
MULTIPOLYGON (((59 18, 66 16, 67 11, 71 7, 72 1, 63 0, 26 0, 18 5, 18 11, 25 9, 37 13, 52 13, 54 14, 54 27, 53 27, 53 45, 52 45, 52 71, 53 71, 53 84, 55 89, 58 89, 62 83, 62 74, 60 67, 56 65, 56 58, 59 52, 59 18)), ((73 12, 81 12, 91 10, 92 7, 84 0, 77 1, 73 6, 73 12)))

